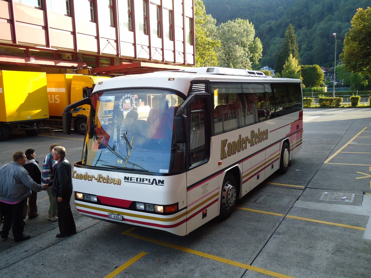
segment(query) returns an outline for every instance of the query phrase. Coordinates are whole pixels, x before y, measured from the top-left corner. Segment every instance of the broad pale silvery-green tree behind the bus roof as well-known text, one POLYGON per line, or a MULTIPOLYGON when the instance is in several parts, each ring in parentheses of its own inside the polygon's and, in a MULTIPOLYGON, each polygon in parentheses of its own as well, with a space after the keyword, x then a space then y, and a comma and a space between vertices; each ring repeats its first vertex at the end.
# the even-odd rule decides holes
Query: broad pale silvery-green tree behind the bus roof
POLYGON ((255 38, 255 29, 248 20, 236 19, 220 24, 217 28, 221 47, 218 61, 222 67, 252 69, 259 64, 263 46, 255 38))

